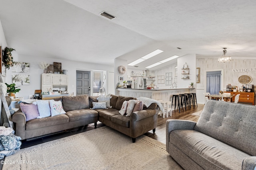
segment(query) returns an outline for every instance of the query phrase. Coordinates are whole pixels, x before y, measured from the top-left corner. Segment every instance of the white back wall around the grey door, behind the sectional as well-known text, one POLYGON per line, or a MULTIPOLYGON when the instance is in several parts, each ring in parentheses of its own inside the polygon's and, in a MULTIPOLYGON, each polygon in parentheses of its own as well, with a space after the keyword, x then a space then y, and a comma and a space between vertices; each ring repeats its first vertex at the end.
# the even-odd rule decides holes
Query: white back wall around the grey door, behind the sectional
MULTIPOLYGON (((14 58, 14 61, 16 61, 15 58, 14 58)), ((93 71, 93 70, 104 71, 105 70, 107 72, 114 71, 113 66, 108 66, 108 65, 82 63, 82 62, 76 62, 76 61, 67 61, 67 60, 44 58, 44 57, 37 57, 37 56, 19 55, 18 61, 30 63, 30 73, 29 73, 30 85, 21 86, 20 92, 16 93, 16 97, 24 97, 24 99, 27 99, 29 94, 34 94, 34 90, 41 89, 41 74, 43 73, 43 70, 40 69, 38 66, 40 62, 46 62, 49 64, 53 64, 53 62, 62 63, 62 69, 68 70, 68 73, 67 73, 68 82, 69 82, 68 92, 70 94, 72 94, 72 92, 76 94, 76 70, 85 70, 85 71, 93 71), (72 88, 72 85, 74 85, 74 88, 72 88)), ((12 82, 12 74, 16 74, 16 73, 12 73, 11 69, 7 70, 6 83, 10 84, 12 82)), ((106 84, 106 81, 104 82, 104 84, 106 84)), ((108 88, 106 87, 105 90, 107 89, 108 88)))

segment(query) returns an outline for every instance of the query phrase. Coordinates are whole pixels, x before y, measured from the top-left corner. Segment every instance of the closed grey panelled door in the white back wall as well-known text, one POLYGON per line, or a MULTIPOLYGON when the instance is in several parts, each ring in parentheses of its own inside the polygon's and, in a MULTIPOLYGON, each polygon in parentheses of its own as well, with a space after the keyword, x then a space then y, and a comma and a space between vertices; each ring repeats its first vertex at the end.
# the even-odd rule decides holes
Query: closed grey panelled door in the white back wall
POLYGON ((87 94, 90 96, 90 71, 76 70, 76 96, 87 94))

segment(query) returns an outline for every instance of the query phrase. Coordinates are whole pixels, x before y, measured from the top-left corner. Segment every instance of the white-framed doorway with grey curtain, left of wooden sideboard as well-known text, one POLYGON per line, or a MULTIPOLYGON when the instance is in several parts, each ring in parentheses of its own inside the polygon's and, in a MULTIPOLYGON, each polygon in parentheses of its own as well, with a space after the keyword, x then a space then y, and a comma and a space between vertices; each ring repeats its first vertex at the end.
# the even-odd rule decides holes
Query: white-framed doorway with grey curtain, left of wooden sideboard
POLYGON ((219 94, 224 87, 223 69, 206 71, 206 92, 219 94))

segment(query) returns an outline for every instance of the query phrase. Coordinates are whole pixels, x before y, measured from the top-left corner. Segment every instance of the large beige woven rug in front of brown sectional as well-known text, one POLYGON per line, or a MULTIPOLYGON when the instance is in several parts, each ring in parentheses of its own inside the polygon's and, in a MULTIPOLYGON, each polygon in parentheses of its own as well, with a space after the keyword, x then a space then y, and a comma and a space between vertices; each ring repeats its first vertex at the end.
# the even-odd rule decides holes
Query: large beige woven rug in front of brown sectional
POLYGON ((100 127, 21 149, 5 158, 3 170, 180 170, 166 145, 141 135, 132 139, 100 127), (10 164, 10 162, 12 162, 10 164))

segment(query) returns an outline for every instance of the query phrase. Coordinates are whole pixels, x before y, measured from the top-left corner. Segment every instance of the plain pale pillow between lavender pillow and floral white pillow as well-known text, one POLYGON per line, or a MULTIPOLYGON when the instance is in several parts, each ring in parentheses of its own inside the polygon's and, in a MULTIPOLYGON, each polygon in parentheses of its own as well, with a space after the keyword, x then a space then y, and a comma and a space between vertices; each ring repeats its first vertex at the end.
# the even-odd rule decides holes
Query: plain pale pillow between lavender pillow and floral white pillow
POLYGON ((49 117, 51 115, 49 100, 38 100, 33 102, 37 105, 39 116, 37 118, 49 117))

